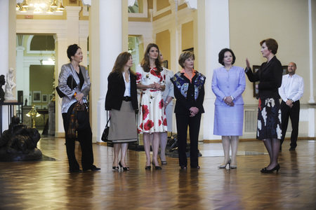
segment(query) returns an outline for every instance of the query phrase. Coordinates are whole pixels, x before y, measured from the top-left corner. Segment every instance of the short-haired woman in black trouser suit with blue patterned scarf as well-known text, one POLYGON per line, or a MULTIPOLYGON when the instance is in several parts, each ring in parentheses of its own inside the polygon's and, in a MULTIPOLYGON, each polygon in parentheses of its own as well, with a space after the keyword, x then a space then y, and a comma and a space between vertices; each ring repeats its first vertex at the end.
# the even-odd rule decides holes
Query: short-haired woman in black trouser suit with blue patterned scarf
POLYGON ((190 167, 199 169, 198 140, 201 116, 204 113, 204 83, 205 76, 193 69, 195 55, 193 52, 181 53, 179 60, 182 71, 178 71, 171 81, 173 82, 174 96, 176 97, 176 123, 178 132, 178 154, 181 169, 187 169, 187 125, 190 132, 190 167))

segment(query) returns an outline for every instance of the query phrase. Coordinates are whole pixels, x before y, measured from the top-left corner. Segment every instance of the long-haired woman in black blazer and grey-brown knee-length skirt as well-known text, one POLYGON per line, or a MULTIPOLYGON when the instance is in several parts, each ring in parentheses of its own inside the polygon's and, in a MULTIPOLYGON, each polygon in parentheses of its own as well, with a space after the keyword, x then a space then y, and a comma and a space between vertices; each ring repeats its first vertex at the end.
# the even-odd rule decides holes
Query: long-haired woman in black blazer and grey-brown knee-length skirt
POLYGON ((110 111, 108 140, 114 144, 112 169, 119 166, 128 171, 125 157, 129 142, 137 141, 136 113, 138 111, 136 74, 131 71, 133 59, 129 52, 117 56, 112 72, 107 78, 105 110, 110 111), (121 158, 119 160, 119 151, 121 158))

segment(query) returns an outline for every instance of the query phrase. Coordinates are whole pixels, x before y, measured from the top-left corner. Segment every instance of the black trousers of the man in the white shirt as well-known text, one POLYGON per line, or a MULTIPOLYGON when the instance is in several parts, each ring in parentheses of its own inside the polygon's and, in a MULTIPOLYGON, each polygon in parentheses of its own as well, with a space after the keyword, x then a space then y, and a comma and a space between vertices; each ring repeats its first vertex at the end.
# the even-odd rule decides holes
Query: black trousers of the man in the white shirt
POLYGON ((284 141, 285 134, 287 133, 287 125, 289 124, 289 118, 291 118, 292 123, 292 133, 291 133, 291 147, 296 148, 297 137, 298 137, 298 122, 300 120, 300 101, 293 103, 292 108, 287 106, 284 101, 281 103, 281 115, 282 115, 282 139, 281 145, 284 141))

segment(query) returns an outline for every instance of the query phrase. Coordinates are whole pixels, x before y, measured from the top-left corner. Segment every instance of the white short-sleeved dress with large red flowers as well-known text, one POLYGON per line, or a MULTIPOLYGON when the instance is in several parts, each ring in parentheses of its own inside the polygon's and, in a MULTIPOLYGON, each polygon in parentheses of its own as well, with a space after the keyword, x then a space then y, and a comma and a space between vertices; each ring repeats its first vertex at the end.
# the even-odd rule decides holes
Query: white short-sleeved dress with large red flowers
MULTIPOLYGON (((166 75, 164 71, 157 73, 155 70, 156 68, 152 68, 150 72, 145 72, 138 65, 136 67, 136 83, 142 85, 159 83, 160 85, 165 85, 166 75)), ((140 95, 138 132, 153 133, 166 131, 167 123, 162 91, 154 89, 143 90, 140 95)))

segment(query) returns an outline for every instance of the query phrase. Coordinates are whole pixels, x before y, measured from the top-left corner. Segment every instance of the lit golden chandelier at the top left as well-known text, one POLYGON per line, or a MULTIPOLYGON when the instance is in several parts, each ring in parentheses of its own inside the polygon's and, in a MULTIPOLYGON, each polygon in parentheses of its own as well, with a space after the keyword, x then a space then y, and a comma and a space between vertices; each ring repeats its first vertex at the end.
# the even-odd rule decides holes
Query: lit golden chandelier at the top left
POLYGON ((34 14, 53 14, 62 13, 65 8, 62 6, 62 0, 17 0, 16 10, 20 13, 33 11, 34 14))

